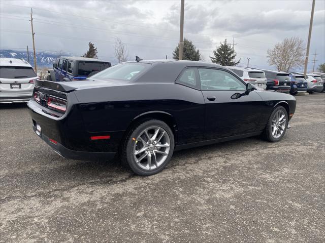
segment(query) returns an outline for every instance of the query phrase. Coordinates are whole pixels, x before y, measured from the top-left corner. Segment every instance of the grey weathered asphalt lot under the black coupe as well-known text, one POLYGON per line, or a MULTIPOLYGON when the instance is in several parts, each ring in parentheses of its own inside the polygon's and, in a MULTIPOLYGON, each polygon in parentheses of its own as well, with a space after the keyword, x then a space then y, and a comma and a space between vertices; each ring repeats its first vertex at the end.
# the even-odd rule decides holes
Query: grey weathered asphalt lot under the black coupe
POLYGON ((24 104, 0 106, 1 242, 324 242, 325 95, 298 95, 278 143, 174 153, 140 177, 61 158, 24 104))

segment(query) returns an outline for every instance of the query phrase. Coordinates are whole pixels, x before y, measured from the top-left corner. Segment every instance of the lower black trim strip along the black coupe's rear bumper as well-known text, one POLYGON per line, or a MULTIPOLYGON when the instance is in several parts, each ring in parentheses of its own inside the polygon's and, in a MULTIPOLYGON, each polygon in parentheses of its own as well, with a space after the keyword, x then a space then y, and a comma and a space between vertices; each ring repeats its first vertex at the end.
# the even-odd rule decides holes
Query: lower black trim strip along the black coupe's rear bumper
MULTIPOLYGON (((32 125, 34 132, 36 127, 32 125)), ((49 137, 41 134, 41 139, 46 142, 56 153, 64 158, 78 159, 78 160, 103 160, 112 159, 115 156, 115 152, 85 152, 85 151, 75 151, 64 147, 62 144, 56 142, 51 142, 49 137)))

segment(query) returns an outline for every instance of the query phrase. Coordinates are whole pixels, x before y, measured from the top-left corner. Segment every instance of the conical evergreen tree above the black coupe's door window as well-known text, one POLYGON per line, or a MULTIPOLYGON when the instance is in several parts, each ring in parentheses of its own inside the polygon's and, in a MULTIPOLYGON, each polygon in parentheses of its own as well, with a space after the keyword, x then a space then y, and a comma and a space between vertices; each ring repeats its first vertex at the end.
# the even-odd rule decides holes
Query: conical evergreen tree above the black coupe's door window
POLYGON ((227 39, 223 43, 220 42, 220 46, 213 51, 213 55, 214 57, 210 57, 211 61, 221 66, 235 66, 240 62, 240 59, 238 62, 235 61, 237 54, 227 39))

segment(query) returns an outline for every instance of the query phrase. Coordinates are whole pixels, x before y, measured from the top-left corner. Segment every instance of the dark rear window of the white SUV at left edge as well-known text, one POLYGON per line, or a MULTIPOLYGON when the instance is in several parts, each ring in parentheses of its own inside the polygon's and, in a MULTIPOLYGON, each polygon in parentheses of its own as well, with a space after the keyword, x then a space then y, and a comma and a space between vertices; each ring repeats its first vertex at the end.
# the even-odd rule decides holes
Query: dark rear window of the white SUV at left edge
POLYGON ((1 78, 28 78, 37 77, 31 67, 0 66, 1 78))

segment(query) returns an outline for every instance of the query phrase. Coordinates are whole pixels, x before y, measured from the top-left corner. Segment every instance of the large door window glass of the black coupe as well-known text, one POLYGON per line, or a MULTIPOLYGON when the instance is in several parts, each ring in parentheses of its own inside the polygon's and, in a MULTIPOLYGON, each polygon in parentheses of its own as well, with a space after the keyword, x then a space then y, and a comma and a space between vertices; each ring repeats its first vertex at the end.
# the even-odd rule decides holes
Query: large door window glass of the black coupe
POLYGON ((233 74, 212 68, 199 68, 201 90, 238 90, 245 91, 246 86, 233 74))

